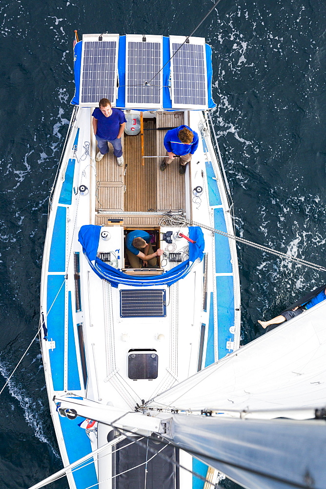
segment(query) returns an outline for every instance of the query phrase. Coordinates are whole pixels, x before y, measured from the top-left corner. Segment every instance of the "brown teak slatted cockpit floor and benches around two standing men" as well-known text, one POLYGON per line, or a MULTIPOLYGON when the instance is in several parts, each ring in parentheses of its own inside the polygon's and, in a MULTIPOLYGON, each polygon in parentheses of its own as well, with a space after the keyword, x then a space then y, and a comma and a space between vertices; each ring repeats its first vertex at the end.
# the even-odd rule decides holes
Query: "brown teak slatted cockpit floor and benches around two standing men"
MULTIPOLYGON (((158 128, 175 128, 183 124, 183 112, 156 113, 156 120, 144 121, 144 156, 166 153, 163 139, 167 132, 158 128)), ((185 177, 179 175, 179 158, 160 170, 162 158, 144 158, 142 165, 141 135, 122 136, 124 166, 119 167, 113 149, 96 163, 96 224, 108 222, 114 212, 153 212, 185 209, 185 177), (125 173, 125 175, 124 175, 125 173)), ((98 151, 98 149, 96 149, 98 151)), ((159 216, 123 215, 124 225, 155 226, 159 216)))

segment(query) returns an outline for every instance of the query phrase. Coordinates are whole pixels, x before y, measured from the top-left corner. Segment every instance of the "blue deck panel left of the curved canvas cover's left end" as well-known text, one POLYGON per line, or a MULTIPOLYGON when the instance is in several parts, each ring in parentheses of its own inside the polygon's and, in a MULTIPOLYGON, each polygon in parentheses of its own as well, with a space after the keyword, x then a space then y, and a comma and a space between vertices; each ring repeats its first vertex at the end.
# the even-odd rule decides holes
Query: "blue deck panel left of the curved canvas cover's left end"
POLYGON ((66 244, 66 208, 58 207, 53 226, 49 272, 65 271, 65 244, 66 244))

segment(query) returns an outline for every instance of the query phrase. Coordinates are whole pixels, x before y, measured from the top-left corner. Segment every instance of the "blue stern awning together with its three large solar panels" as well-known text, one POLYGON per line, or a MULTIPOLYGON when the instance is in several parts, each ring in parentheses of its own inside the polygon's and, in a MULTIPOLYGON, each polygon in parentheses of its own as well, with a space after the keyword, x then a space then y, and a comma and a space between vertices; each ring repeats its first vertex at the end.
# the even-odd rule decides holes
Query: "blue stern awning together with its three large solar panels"
POLYGON ((212 49, 204 38, 85 34, 74 47, 72 105, 108 98, 134 110, 206 110, 212 99, 212 49))

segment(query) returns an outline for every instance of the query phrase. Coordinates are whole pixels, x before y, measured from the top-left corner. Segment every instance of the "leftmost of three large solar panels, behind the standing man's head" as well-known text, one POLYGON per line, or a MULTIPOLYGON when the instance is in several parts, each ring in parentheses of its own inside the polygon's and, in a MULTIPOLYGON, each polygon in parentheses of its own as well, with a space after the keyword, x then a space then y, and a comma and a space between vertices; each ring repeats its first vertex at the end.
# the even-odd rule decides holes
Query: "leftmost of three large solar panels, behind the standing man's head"
POLYGON ((114 102, 117 41, 83 43, 81 104, 98 104, 101 98, 114 102))

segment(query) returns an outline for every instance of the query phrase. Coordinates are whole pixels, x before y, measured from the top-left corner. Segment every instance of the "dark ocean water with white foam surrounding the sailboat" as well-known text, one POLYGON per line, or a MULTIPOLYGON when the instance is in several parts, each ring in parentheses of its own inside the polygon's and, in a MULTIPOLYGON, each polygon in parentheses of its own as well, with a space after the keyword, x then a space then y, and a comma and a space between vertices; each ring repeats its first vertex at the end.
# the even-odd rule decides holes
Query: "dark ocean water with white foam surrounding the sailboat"
MULTIPOLYGON (((187 35, 211 5, 1 1, 0 388, 38 329, 47 200, 74 93, 73 30, 187 35)), ((321 265, 325 17, 324 0, 223 0, 196 33, 213 46, 213 118, 238 232, 321 265)), ((239 263, 244 344, 262 334, 257 319, 326 282, 252 248, 239 248, 239 263)), ((28 488, 60 468, 35 341, 0 398, 0 489, 28 488)))

